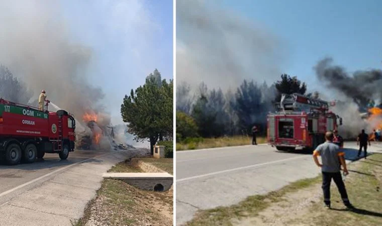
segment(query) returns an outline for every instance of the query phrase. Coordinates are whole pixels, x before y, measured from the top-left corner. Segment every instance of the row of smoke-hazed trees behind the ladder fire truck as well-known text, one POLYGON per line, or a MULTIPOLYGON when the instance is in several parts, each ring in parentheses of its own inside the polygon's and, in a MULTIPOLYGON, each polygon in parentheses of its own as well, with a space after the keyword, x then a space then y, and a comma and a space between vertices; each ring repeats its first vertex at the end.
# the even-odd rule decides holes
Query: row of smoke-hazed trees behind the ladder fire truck
MULTIPOLYGON (((271 85, 244 80, 235 92, 209 90, 201 83, 196 93, 186 83, 176 88, 176 138, 247 135, 253 125, 265 132, 266 115, 274 110, 281 93, 306 94, 307 86, 297 77, 282 74, 271 85)), ((318 93, 309 93, 318 98, 318 93)))

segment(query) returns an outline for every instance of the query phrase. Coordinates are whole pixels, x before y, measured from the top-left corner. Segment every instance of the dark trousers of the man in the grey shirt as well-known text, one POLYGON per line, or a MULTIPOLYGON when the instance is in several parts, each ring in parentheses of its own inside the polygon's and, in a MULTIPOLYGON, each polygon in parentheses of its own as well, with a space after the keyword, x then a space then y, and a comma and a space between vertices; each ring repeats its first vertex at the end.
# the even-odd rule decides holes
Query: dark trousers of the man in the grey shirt
POLYGON ((341 194, 342 201, 345 205, 350 204, 349 199, 347 197, 347 192, 345 188, 345 184, 342 181, 341 172, 329 173, 322 172, 322 190, 324 191, 324 202, 327 205, 330 205, 330 183, 334 180, 336 183, 338 191, 341 194))

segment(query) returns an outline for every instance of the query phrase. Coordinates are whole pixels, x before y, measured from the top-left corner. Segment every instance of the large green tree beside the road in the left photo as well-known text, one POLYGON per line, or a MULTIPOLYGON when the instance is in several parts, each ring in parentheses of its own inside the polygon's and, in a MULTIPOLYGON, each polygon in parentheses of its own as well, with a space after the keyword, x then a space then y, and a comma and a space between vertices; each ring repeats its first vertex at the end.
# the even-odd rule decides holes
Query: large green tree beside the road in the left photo
POLYGON ((149 139, 153 154, 153 146, 158 141, 172 140, 173 80, 162 80, 160 72, 155 69, 147 76, 144 85, 132 89, 129 96, 125 95, 121 115, 123 121, 128 123, 128 132, 135 136, 135 141, 149 139))

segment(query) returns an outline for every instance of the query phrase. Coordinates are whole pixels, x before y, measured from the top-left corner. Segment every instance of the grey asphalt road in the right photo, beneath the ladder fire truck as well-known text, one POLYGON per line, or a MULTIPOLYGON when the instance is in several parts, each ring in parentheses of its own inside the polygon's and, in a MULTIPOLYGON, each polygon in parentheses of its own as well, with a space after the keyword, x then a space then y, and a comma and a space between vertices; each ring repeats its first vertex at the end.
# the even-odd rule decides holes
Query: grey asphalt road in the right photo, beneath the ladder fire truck
MULTIPOLYGON (((371 145, 370 152, 382 150, 371 145)), ((346 142, 345 152, 347 162, 355 160, 355 142, 346 142)), ((278 152, 268 145, 178 151, 176 224, 192 219, 198 209, 236 204, 319 173, 310 153, 278 152)))

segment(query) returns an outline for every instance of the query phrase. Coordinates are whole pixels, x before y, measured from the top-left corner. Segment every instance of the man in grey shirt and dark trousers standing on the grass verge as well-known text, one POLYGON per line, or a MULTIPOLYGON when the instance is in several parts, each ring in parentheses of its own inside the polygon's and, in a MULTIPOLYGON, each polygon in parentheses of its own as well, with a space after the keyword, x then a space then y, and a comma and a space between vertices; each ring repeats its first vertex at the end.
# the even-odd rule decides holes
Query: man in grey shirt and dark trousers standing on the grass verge
POLYGON ((314 162, 318 167, 321 167, 322 171, 322 190, 324 192, 324 203, 325 207, 330 209, 330 183, 332 178, 334 183, 336 183, 338 191, 341 194, 343 204, 348 208, 353 208, 347 196, 345 184, 341 177, 341 165, 343 166, 344 174, 347 175, 345 158, 343 157, 345 153, 341 151, 338 145, 332 143, 333 133, 326 132, 325 140, 326 142, 320 144, 316 150, 313 152, 314 162), (318 156, 322 158, 322 164, 318 161, 318 156), (338 161, 339 160, 339 161, 338 161))

